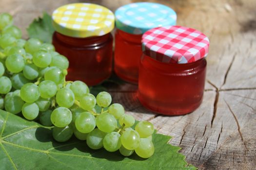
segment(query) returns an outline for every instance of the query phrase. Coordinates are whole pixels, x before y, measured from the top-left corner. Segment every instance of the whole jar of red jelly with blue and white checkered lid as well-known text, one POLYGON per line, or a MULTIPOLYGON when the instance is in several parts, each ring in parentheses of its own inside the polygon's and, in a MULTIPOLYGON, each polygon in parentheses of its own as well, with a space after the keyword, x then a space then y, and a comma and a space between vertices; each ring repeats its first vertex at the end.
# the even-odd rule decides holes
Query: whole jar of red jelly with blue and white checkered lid
POLYGON ((155 27, 176 25, 177 15, 168 6, 138 2, 118 8, 115 16, 114 69, 121 79, 137 84, 142 34, 155 27))

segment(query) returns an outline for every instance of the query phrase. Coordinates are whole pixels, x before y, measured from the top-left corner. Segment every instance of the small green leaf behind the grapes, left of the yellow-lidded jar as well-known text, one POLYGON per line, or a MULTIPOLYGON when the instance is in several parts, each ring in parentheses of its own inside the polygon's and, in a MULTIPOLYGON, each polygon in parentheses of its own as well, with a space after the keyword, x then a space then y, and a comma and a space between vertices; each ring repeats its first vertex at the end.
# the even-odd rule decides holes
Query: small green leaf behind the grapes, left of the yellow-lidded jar
POLYGON ((33 20, 27 28, 27 32, 30 38, 38 38, 43 42, 51 43, 54 33, 52 17, 47 13, 43 13, 42 17, 33 20))

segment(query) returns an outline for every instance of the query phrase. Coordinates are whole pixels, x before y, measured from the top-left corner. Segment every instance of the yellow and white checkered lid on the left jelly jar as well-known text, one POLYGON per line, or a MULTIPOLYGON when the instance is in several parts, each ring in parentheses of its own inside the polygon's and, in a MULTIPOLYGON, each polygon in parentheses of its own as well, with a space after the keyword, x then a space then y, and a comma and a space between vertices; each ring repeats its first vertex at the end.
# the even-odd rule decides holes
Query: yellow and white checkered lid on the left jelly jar
POLYGON ((71 3, 57 8, 53 14, 53 27, 67 36, 85 38, 100 36, 114 29, 114 14, 93 3, 71 3))

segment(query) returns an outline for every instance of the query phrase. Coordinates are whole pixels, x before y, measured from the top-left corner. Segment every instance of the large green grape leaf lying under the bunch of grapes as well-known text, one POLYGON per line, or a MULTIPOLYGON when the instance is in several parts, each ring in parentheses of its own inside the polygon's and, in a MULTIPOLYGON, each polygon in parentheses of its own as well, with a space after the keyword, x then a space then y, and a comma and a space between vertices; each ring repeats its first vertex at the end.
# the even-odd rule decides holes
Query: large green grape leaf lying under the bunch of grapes
POLYGON ((187 164, 170 136, 153 135, 155 153, 124 157, 104 149, 91 150, 75 137, 54 141, 51 128, 0 110, 0 170, 196 170, 187 164))

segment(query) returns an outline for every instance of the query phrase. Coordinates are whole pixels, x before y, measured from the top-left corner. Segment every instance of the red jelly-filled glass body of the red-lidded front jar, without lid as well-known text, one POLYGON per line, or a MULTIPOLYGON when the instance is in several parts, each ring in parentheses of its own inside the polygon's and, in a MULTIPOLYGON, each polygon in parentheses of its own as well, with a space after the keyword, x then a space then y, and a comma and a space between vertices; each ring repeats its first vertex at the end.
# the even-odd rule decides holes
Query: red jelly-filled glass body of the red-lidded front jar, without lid
POLYGON ((161 63, 142 56, 139 69, 138 99, 152 111, 167 115, 193 112, 201 104, 206 60, 193 63, 161 63))

